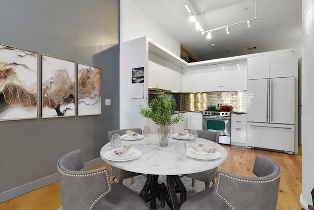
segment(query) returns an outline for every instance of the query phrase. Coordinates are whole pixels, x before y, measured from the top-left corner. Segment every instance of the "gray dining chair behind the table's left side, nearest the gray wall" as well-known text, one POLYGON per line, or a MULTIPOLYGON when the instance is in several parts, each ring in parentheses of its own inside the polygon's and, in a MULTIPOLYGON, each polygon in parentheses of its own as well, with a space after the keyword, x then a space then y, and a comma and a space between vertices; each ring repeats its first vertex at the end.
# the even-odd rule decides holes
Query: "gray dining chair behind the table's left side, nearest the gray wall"
MULTIPOLYGON (((126 134, 127 130, 132 130, 135 133, 142 134, 141 128, 131 128, 131 129, 121 129, 121 130, 109 130, 108 131, 108 139, 109 142, 111 140, 111 136, 113 134, 119 134, 120 136, 126 134)), ((131 178, 131 183, 133 183, 133 177, 140 175, 139 173, 125 171, 114 166, 110 165, 110 173, 112 175, 112 183, 114 183, 114 179, 117 179, 119 183, 122 183, 124 179, 131 178)))

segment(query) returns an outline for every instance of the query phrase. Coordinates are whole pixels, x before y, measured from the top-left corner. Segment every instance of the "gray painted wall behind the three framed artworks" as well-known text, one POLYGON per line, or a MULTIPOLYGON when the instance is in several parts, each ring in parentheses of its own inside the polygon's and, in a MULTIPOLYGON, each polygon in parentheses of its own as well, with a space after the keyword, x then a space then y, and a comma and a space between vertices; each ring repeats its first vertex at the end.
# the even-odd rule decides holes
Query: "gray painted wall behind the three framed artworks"
POLYGON ((39 53, 39 90, 41 54, 103 71, 102 115, 0 121, 1 193, 56 173, 71 150, 84 162, 100 157, 107 131, 119 129, 119 0, 1 0, 0 8, 0 44, 39 53))

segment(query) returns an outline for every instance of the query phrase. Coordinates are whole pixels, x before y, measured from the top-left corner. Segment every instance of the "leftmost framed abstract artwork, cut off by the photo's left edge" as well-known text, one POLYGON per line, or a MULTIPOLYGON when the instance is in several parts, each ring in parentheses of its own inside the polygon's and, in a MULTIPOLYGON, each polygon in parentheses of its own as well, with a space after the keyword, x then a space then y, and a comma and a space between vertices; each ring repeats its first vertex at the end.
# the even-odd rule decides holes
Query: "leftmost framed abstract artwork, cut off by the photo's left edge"
POLYGON ((38 53, 0 44, 0 120, 38 118, 38 53))

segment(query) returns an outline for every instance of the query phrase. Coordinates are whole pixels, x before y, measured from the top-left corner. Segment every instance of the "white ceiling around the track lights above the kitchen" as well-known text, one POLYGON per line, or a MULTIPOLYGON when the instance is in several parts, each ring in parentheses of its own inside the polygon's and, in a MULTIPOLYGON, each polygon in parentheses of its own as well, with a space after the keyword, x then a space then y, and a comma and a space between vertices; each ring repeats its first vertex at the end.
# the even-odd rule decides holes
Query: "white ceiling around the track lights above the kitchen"
POLYGON ((198 60, 302 47, 302 0, 131 0, 198 60), (189 21, 189 5, 204 30, 246 23, 201 35, 189 21), (255 15, 256 3, 256 15, 255 15), (215 46, 212 47, 211 45, 215 46), (249 50, 254 48, 255 50, 249 50))

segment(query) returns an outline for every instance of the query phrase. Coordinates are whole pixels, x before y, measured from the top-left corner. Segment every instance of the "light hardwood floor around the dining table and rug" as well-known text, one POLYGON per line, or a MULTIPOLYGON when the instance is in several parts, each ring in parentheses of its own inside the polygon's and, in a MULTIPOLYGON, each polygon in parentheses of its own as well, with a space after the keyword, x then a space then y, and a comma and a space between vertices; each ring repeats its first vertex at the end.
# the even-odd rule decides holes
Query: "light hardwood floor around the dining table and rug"
MULTIPOLYGON (((223 145, 228 151, 228 159, 219 167, 235 174, 253 175, 253 165, 257 154, 276 161, 282 170, 277 210, 301 210, 299 197, 302 191, 302 155, 281 152, 246 149, 245 147, 223 145)), ((107 166, 106 163, 98 167, 107 166)), ((94 167, 94 168, 98 168, 94 167)), ((59 183, 54 182, 32 192, 0 204, 0 210, 56 210, 61 206, 59 183)))

